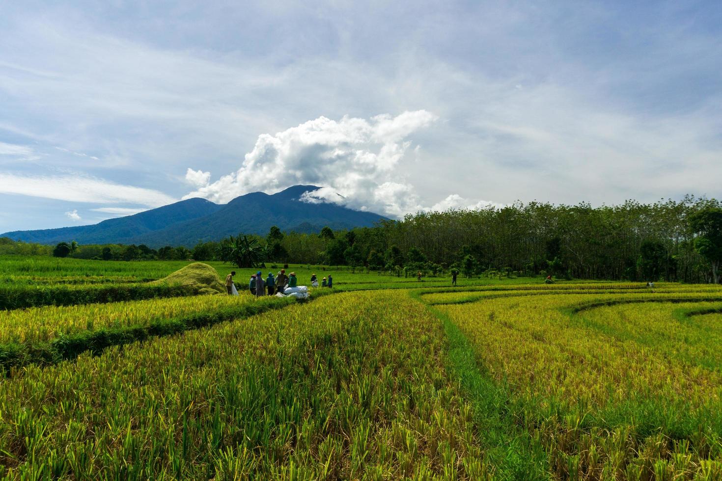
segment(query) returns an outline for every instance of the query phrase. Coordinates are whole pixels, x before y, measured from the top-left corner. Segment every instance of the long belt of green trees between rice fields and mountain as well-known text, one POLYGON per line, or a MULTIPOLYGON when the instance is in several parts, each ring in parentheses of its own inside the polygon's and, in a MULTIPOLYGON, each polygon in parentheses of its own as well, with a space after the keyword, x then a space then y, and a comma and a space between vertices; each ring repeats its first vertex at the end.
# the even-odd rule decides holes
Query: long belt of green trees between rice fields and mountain
POLYGON ((238 260, 351 265, 397 275, 422 270, 464 275, 513 273, 632 281, 718 281, 722 209, 687 196, 653 204, 629 200, 593 208, 514 203, 503 208, 421 212, 374 227, 320 234, 239 235, 192 250, 144 245, 40 246, 0 239, 0 254, 87 259, 238 260))

